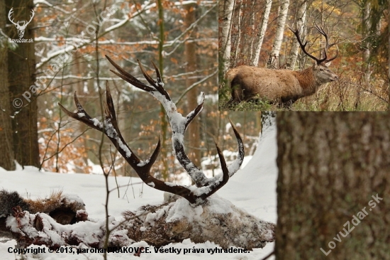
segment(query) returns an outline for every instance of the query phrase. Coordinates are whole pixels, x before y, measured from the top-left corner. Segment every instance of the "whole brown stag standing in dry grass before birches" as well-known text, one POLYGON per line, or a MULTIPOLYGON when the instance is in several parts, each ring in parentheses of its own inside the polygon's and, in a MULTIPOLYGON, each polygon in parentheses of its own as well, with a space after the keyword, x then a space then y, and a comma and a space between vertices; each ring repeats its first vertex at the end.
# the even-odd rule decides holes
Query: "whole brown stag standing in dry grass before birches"
MULTIPOLYGON (((232 98, 229 104, 248 101, 250 99, 266 99, 269 102, 282 104, 283 107, 289 107, 301 97, 307 97, 315 94, 318 88, 328 82, 338 80, 338 75, 328 69, 330 61, 338 56, 328 59, 327 50, 335 45, 328 43, 328 34, 323 28, 315 26, 317 31, 325 37, 325 57, 316 58, 306 51, 306 44, 303 44, 299 36, 299 31, 290 30, 295 34, 303 53, 316 60, 313 66, 306 70, 269 70, 261 67, 251 67, 241 65, 228 70, 226 80, 230 83, 232 98)), ((337 47, 337 46, 336 46, 337 47)))

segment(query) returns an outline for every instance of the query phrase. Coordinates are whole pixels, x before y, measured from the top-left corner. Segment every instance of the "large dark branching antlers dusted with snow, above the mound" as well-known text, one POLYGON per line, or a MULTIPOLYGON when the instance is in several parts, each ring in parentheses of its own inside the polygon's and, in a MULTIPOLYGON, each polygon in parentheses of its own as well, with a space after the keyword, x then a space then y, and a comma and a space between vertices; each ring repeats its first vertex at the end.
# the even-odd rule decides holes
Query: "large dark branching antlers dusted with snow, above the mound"
POLYGON ((155 72, 157 74, 157 81, 153 80, 152 77, 150 77, 150 75, 145 72, 145 69, 138 61, 143 76, 150 84, 147 85, 143 82, 140 82, 140 80, 133 77, 133 75, 130 75, 128 72, 123 70, 123 68, 114 63, 111 58, 108 58, 107 56, 106 58, 114 67, 116 67, 116 70, 118 70, 118 72, 115 72, 113 70, 111 70, 111 72, 118 75, 123 80, 126 80, 126 82, 129 82, 131 85, 138 87, 140 90, 148 92, 161 102, 162 106, 167 112, 167 115, 169 117, 169 124, 172 128, 172 146, 174 150, 174 155, 176 156, 179 163, 186 170, 186 172, 189 173, 191 179, 195 183, 195 186, 177 185, 174 183, 165 182, 162 180, 158 180, 157 178, 153 177, 152 174, 150 174, 150 168, 152 167, 152 164, 155 163, 158 153, 160 152, 160 140, 158 141, 157 147, 152 153, 150 159, 146 161, 141 161, 140 158, 135 155, 135 153, 128 147, 127 143, 121 135, 121 131, 119 131, 118 129, 118 121, 116 119, 116 113, 113 107, 113 100, 108 85, 106 88, 106 103, 104 105, 105 119, 103 121, 99 121, 99 119, 90 117, 89 114, 84 111, 82 105, 77 99, 76 92, 74 92, 74 103, 76 104, 77 112, 69 112, 67 109, 65 109, 65 107, 62 107, 62 104, 59 103, 61 109, 69 117, 72 117, 78 121, 82 121, 84 124, 87 124, 87 126, 90 126, 91 128, 104 133, 108 137, 108 139, 110 139, 111 142, 116 146, 123 158, 125 158, 125 160, 140 176, 143 182, 146 183, 148 186, 157 190, 162 190, 168 193, 173 193, 175 195, 182 196, 193 205, 201 205, 202 203, 206 202, 207 197, 209 197, 218 189, 220 189, 223 185, 225 185, 228 182, 228 179, 240 168, 241 164, 243 163, 243 141, 240 137, 240 134, 238 134, 237 129, 235 129, 234 124, 230 121, 238 143, 238 157, 229 167, 226 166, 225 158, 223 158, 223 154, 218 145, 216 144, 223 173, 213 178, 206 178, 206 175, 201 171, 201 169, 199 169, 197 166, 194 165, 194 163, 189 160, 188 156, 186 156, 186 153, 184 151, 184 132, 186 131, 186 128, 189 123, 191 123, 191 121, 196 117, 196 115, 201 112, 204 103, 204 93, 201 92, 201 99, 198 106, 186 117, 183 117, 182 114, 177 112, 176 105, 174 104, 174 102, 172 102, 172 99, 171 97, 169 97, 168 92, 164 89, 164 83, 162 82, 160 71, 157 69, 154 63, 153 66, 155 67, 155 72))

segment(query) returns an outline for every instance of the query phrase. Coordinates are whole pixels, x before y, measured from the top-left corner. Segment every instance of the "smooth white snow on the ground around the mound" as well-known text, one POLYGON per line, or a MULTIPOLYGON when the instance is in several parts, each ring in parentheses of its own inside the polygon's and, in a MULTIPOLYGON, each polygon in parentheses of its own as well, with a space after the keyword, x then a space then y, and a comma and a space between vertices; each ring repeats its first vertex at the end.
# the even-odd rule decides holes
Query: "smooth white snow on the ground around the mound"
MULTIPOLYGON (((245 209, 252 215, 269 222, 277 222, 277 142, 276 126, 265 126, 260 138, 257 150, 247 165, 230 178, 228 183, 218 190, 220 197, 233 202, 237 207, 245 209)), ((118 185, 123 186, 110 194, 109 214, 116 219, 121 218, 121 212, 135 210, 141 205, 158 204, 163 200, 163 193, 152 189, 139 178, 118 177, 118 185), (130 184, 130 185, 129 185, 130 184)), ((114 178, 109 179, 110 188, 116 187, 114 178)), ((33 167, 26 167, 24 170, 17 169, 6 171, 0 168, 0 189, 16 190, 23 197, 38 198, 47 197, 52 191, 62 190, 65 194, 74 194, 84 200, 89 218, 91 220, 104 220, 105 186, 102 175, 93 174, 64 174, 40 172, 33 167)), ((0 237, 1 259, 103 259, 102 254, 67 254, 48 253, 47 247, 33 246, 35 249, 45 249, 44 254, 17 255, 9 253, 8 250, 15 248, 15 240, 0 237)), ((138 242, 132 247, 145 247, 145 242, 138 242)), ((31 248, 31 247, 28 247, 31 248)), ((274 242, 267 244, 263 249, 255 249, 249 253, 207 253, 207 249, 219 248, 213 242, 195 244, 189 239, 182 243, 169 244, 164 249, 181 249, 180 254, 176 253, 155 253, 154 247, 149 247, 150 254, 116 254, 109 253, 108 259, 262 259, 274 249, 274 242), (184 254, 184 249, 198 252, 184 254), (205 253, 201 253, 203 249, 205 253)), ((171 250, 172 250, 171 249, 171 250)), ((68 248, 69 250, 69 248, 68 248)), ((273 259, 273 258, 269 258, 273 259)))

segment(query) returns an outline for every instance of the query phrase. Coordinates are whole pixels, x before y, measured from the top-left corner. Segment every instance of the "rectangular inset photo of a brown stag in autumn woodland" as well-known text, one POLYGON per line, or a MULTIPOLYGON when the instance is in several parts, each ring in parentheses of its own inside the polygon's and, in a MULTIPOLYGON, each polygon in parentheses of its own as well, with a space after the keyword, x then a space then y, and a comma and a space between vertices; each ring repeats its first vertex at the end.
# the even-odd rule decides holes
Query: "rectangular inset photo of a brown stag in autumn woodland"
POLYGON ((371 1, 220 1, 219 109, 387 110, 388 14, 371 1))

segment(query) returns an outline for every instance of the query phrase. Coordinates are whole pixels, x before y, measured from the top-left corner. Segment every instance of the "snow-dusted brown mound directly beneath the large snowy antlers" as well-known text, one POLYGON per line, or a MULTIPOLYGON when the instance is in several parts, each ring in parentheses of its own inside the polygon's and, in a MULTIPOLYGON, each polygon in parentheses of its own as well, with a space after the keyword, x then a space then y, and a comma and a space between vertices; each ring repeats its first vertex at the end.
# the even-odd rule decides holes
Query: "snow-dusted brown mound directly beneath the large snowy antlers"
POLYGON ((130 239, 155 247, 191 239, 195 243, 212 241, 224 249, 252 250, 274 241, 275 224, 250 215, 215 194, 204 205, 194 207, 181 197, 169 204, 125 212, 125 218, 129 222, 123 228, 129 230, 130 239))

